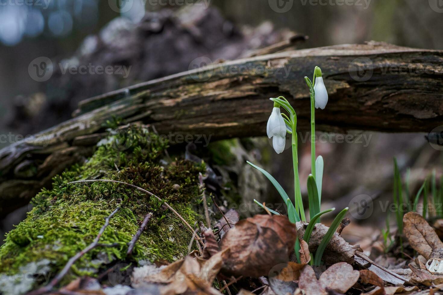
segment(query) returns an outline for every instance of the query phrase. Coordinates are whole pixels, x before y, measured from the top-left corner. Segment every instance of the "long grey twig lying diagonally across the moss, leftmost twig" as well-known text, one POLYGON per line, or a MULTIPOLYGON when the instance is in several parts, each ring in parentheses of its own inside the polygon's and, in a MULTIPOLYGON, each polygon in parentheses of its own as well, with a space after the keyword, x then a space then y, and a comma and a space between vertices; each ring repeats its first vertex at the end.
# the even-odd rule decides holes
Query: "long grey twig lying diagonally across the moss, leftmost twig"
POLYGON ((86 246, 85 249, 78 252, 73 257, 71 257, 70 260, 66 263, 65 267, 62 269, 62 271, 59 272, 58 275, 55 276, 54 279, 51 280, 51 282, 49 282, 49 284, 47 284, 45 287, 42 287, 42 288, 37 289, 35 291, 31 291, 31 292, 27 293, 27 295, 40 295, 40 294, 45 294, 45 293, 51 292, 52 289, 54 288, 54 286, 57 285, 63 279, 63 277, 66 275, 66 273, 70 270, 70 268, 75 263, 75 261, 77 261, 85 253, 89 252, 89 250, 92 250, 95 247, 97 247, 97 245, 100 245, 98 243, 98 240, 100 239, 101 235, 105 232, 106 227, 109 226, 109 219, 111 219, 114 216, 114 214, 116 214, 119 210, 120 210, 120 207, 117 207, 108 217, 106 217, 105 224, 101 227, 100 231, 97 234, 97 237, 94 238, 92 243, 90 243, 88 246, 86 246))

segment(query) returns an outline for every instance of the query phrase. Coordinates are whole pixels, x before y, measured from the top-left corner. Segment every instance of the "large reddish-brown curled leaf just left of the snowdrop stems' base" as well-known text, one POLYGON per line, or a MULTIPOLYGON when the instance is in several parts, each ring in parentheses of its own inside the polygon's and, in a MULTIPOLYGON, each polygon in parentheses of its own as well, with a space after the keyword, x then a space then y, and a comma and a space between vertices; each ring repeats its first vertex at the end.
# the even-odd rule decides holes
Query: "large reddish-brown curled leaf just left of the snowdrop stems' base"
POLYGON ((231 250, 222 270, 235 276, 268 276, 275 265, 288 262, 296 237, 294 224, 282 215, 241 220, 221 239, 221 249, 231 250))

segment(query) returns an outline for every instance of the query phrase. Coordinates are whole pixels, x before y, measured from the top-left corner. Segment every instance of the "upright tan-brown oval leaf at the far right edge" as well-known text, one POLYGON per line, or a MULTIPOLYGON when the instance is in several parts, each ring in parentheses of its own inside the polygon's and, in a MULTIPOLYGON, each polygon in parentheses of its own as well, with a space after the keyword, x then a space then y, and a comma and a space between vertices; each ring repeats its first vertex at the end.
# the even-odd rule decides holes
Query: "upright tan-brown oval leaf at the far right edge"
POLYGON ((408 212, 403 217, 404 234, 411 247, 426 259, 443 258, 443 242, 435 230, 416 212, 408 212))

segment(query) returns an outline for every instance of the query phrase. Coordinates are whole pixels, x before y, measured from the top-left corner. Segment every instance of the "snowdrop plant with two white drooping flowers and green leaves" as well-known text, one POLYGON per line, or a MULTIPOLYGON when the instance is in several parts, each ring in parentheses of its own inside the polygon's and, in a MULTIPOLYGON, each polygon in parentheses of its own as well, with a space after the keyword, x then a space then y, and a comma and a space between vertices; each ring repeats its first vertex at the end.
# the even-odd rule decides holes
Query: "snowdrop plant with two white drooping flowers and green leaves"
MULTIPOLYGON (((322 180, 323 180, 323 157, 319 156, 315 158, 315 109, 324 109, 328 101, 328 94, 326 91, 325 84, 323 82, 322 71, 319 67, 315 67, 314 78, 312 82, 308 77, 305 77, 305 81, 310 90, 311 97, 311 174, 307 178, 307 190, 308 190, 308 204, 309 204, 309 216, 311 218, 303 236, 306 242, 309 242, 311 238, 312 230, 314 230, 315 223, 320 221, 320 216, 334 211, 335 208, 328 209, 325 211, 320 211, 321 203, 321 192, 322 192, 322 180)), ((306 222, 306 216, 303 208, 303 199, 300 190, 300 178, 299 178, 299 161, 298 161, 298 138, 297 138, 297 114, 294 108, 291 106, 289 101, 283 96, 277 98, 270 98, 274 103, 272 108, 272 113, 269 116, 268 124, 266 126, 266 131, 268 138, 272 138, 272 146, 276 153, 280 154, 284 151, 286 134, 291 134, 291 150, 292 150, 292 166, 294 169, 294 195, 295 203, 292 203, 288 194, 284 191, 277 180, 272 177, 264 169, 249 163, 249 165, 258 169, 264 174, 274 185, 277 191, 280 193, 284 203, 287 206, 288 218, 292 223, 295 222, 306 222), (286 113, 282 113, 280 108, 283 108, 286 113)), ((272 212, 273 214, 279 214, 276 211, 272 211, 268 207, 264 206, 257 200, 254 199, 259 206, 263 207, 265 210, 272 212)), ((334 219, 330 229, 323 237, 316 253, 315 259, 311 259, 311 264, 319 265, 321 263, 321 258, 323 256, 323 251, 326 249, 326 245, 329 243, 330 239, 334 235, 335 230, 340 224, 342 218, 346 214, 348 208, 343 209, 334 219)), ((295 256, 299 261, 299 249, 300 244, 297 239, 295 243, 295 256)))

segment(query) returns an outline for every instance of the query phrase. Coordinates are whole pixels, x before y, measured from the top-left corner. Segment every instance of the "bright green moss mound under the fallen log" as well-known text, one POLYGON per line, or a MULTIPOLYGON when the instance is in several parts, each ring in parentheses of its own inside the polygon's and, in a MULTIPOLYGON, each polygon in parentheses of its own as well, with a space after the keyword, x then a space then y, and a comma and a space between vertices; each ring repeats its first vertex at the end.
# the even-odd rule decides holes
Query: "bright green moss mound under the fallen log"
POLYGON ((86 253, 71 268, 66 282, 75 276, 95 275, 105 262, 126 259, 128 242, 148 212, 153 212, 153 218, 136 243, 132 259, 173 261, 187 253, 191 234, 154 197, 124 184, 67 184, 82 179, 128 182, 167 201, 189 224, 201 220, 195 206, 198 173, 205 171, 204 165, 177 160, 162 167, 158 163, 166 143, 140 127, 132 127, 125 138, 121 136, 116 134, 101 142, 89 161, 54 177, 53 188, 35 196, 34 208, 6 235, 0 248, 0 273, 14 275, 20 267, 42 259, 51 261, 51 271, 58 272, 70 257, 93 241, 105 218, 118 206, 120 211, 111 218, 99 241, 117 246, 99 246, 86 253), (123 140, 126 149, 120 150, 123 140), (98 260, 98 254, 107 259, 98 260))

